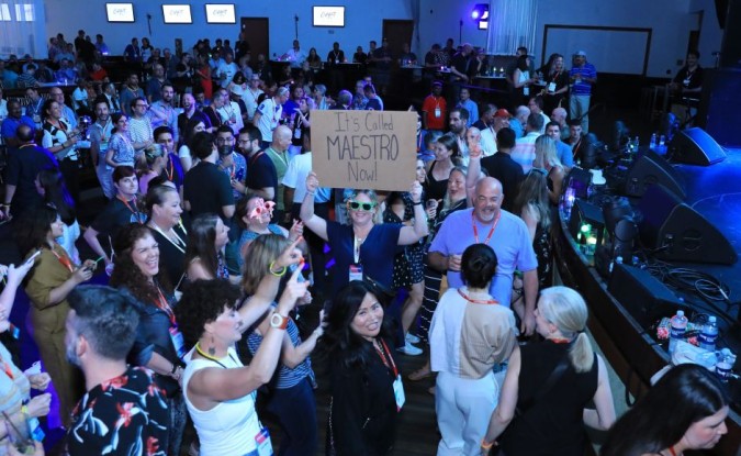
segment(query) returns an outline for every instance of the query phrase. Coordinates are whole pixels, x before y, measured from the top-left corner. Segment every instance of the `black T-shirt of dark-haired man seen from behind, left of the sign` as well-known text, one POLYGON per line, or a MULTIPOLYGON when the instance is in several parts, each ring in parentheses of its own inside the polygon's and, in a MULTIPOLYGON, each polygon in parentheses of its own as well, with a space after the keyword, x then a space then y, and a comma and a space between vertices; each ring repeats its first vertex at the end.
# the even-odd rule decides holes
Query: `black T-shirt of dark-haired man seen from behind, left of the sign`
POLYGON ((191 216, 215 213, 224 218, 222 208, 234 204, 228 176, 211 162, 201 162, 186 174, 184 198, 191 216))

